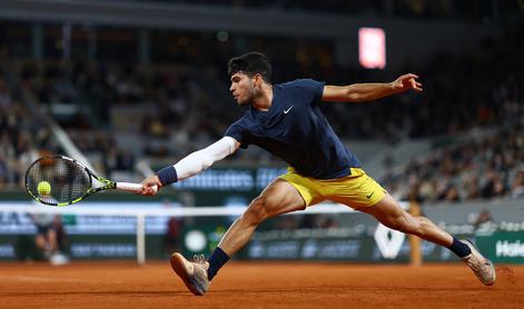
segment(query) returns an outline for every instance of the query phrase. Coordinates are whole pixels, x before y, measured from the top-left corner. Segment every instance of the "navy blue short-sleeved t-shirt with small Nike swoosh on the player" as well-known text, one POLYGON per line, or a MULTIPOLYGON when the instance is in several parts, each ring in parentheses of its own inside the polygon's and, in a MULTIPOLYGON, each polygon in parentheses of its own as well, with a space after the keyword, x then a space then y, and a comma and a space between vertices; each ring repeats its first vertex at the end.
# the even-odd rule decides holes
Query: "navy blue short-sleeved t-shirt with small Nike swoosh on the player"
POLYGON ((362 167, 333 131, 317 102, 324 82, 298 79, 273 87, 268 111, 249 107, 225 136, 241 148, 259 146, 284 159, 297 172, 317 179, 348 176, 350 167, 362 167))

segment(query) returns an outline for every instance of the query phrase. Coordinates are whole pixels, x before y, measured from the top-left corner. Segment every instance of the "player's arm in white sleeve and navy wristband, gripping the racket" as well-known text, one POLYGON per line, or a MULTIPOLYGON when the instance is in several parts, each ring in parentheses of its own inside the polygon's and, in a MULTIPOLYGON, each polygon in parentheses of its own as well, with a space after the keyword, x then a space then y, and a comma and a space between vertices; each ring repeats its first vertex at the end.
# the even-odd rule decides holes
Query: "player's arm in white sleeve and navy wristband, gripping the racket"
POLYGON ((158 189, 171 185, 178 180, 184 180, 195 176, 209 168, 218 160, 226 158, 240 147, 240 142, 231 137, 224 137, 209 147, 195 151, 181 159, 174 166, 159 170, 142 181, 142 196, 155 196, 156 191, 151 189, 158 186, 158 189))

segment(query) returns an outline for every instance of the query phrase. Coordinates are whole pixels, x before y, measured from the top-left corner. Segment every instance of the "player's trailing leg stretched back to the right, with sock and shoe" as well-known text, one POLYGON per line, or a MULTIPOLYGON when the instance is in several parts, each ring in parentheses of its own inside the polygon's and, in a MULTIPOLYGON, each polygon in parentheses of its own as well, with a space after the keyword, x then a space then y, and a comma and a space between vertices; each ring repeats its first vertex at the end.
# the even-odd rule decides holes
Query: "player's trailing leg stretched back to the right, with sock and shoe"
POLYGON ((484 285, 491 286, 495 282, 496 273, 493 263, 483 257, 471 241, 457 240, 427 218, 413 217, 402 209, 388 193, 378 203, 360 207, 358 210, 374 216, 388 228, 412 233, 448 248, 469 266, 484 285))

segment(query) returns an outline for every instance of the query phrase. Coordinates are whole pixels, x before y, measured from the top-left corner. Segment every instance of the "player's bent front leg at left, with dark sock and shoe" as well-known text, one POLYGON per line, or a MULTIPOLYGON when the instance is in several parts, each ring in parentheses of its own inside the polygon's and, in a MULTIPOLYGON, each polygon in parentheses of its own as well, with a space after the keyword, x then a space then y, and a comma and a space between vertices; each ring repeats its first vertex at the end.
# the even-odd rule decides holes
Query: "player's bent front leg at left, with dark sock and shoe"
POLYGON ((284 179, 273 181, 229 227, 208 261, 187 261, 180 253, 170 258, 171 267, 195 295, 204 295, 217 271, 251 238, 265 219, 306 207, 298 190, 284 179))

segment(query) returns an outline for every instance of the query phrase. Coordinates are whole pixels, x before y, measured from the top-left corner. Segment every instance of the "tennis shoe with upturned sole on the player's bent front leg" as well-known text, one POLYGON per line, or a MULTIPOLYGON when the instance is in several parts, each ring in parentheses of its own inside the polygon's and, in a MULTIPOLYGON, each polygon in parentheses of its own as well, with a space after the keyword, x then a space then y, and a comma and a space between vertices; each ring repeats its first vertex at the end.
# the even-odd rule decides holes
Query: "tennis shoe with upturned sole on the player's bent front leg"
POLYGON ((186 287, 197 296, 202 296, 209 289, 207 269, 209 263, 204 255, 195 256, 195 261, 188 261, 182 255, 176 252, 171 256, 171 268, 182 279, 186 287))

